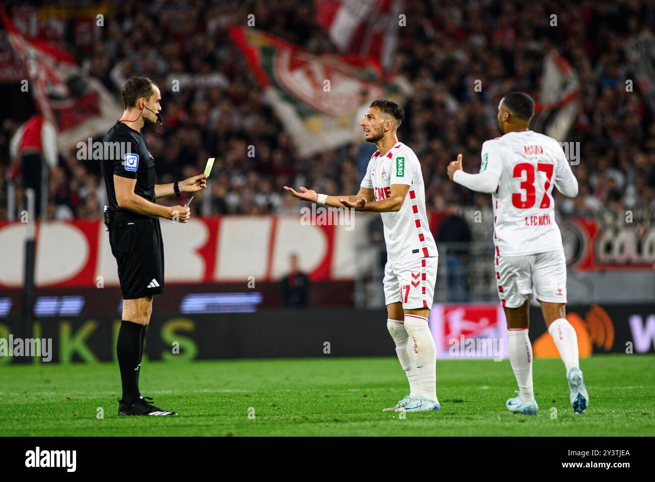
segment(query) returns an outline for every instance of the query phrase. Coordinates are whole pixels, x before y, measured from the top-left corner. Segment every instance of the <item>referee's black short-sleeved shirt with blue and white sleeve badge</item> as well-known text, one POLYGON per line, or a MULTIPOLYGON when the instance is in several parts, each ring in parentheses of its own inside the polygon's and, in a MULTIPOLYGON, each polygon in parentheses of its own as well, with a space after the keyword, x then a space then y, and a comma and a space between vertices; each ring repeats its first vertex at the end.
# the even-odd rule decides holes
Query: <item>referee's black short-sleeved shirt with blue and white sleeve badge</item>
MULTIPOLYGON (((153 158, 145 147, 141 132, 126 126, 123 122, 116 122, 107 131, 102 139, 105 155, 102 160, 102 174, 105 177, 105 188, 109 207, 115 211, 128 211, 119 208, 114 189, 114 175, 136 179, 134 194, 137 194, 151 202, 155 202, 155 158, 153 158), (108 149, 108 143, 113 143, 115 149, 108 149), (126 146, 129 146, 129 151, 126 146), (129 152, 129 153, 128 153, 129 152)), ((134 213, 138 216, 137 213, 134 213)), ((149 217, 143 215, 143 217, 149 217)))

